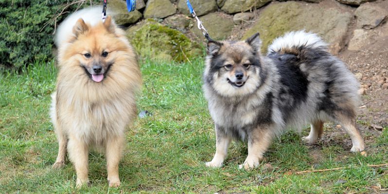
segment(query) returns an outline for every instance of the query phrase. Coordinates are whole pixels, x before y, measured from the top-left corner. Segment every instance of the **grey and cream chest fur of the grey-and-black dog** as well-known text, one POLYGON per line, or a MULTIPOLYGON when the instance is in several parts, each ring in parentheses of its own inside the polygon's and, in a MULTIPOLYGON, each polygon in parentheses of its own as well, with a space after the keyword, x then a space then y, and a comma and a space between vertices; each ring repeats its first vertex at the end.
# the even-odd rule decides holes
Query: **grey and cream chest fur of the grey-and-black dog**
POLYGON ((207 84, 204 91, 215 127, 231 138, 245 141, 258 126, 274 123, 271 92, 259 89, 245 97, 230 98, 217 95, 207 84))

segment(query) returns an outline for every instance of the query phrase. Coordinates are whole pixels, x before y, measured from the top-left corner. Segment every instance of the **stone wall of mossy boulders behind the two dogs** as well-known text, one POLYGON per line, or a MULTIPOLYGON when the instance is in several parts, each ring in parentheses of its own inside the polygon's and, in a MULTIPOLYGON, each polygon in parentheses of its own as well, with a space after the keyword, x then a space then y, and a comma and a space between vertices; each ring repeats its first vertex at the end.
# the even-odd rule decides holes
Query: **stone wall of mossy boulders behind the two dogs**
MULTIPOLYGON (((388 0, 191 0, 210 36, 216 40, 245 39, 261 34, 262 51, 288 31, 316 32, 330 51, 358 50, 369 41, 386 39, 388 0)), ((186 0, 137 0, 128 13, 124 0, 108 0, 116 23, 128 32, 140 55, 185 61, 203 54, 205 41, 196 28, 186 0)))

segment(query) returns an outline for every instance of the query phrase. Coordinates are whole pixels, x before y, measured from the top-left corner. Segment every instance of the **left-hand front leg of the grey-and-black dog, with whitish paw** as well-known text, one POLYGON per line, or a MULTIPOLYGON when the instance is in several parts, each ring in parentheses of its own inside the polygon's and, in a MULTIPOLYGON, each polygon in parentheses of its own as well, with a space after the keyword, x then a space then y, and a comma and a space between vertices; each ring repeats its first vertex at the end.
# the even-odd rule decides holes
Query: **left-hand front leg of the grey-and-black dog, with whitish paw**
POLYGON ((227 157, 228 147, 231 141, 231 138, 228 137, 224 131, 221 131, 215 127, 215 154, 211 162, 206 162, 205 165, 208 167, 221 167, 222 163, 227 157))

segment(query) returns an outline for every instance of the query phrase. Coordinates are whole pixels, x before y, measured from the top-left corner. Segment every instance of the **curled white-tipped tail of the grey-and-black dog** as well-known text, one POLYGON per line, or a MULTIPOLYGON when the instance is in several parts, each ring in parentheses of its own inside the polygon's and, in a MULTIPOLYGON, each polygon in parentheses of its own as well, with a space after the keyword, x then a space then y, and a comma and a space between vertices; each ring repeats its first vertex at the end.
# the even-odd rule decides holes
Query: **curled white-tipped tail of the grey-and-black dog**
POLYGON ((327 44, 315 33, 296 31, 288 32, 276 38, 268 47, 267 55, 293 54, 300 59, 314 58, 320 52, 327 52, 327 44))

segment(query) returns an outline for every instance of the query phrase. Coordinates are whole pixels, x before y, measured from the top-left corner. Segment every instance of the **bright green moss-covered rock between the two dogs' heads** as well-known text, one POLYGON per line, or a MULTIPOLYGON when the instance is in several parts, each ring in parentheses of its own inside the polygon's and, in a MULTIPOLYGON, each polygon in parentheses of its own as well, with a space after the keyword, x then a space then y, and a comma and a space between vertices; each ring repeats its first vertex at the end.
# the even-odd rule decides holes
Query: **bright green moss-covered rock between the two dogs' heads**
POLYGON ((139 55, 143 57, 183 62, 202 54, 199 44, 191 41, 182 32, 153 19, 140 22, 126 33, 139 55))

